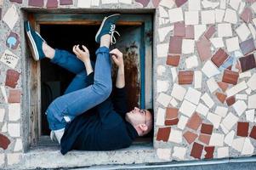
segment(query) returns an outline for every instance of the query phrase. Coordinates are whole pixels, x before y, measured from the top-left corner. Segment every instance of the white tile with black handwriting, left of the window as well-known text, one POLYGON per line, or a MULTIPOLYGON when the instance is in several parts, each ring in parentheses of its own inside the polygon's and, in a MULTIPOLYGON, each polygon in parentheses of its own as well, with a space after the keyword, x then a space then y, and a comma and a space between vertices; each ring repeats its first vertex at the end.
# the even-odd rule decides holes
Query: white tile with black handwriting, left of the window
POLYGON ((15 66, 18 63, 18 60, 19 58, 15 54, 10 52, 8 49, 5 50, 5 52, 3 53, 0 59, 0 61, 2 61, 5 65, 8 65, 12 69, 15 68, 15 66))

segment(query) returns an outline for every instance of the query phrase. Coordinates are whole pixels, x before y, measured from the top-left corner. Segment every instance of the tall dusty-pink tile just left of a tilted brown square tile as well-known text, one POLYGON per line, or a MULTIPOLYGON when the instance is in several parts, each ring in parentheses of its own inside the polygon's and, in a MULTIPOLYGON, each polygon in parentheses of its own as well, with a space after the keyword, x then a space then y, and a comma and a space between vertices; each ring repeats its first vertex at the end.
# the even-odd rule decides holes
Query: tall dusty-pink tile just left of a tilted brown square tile
POLYGON ((196 42, 197 52, 201 61, 206 61, 212 57, 211 53, 211 42, 204 36, 202 36, 199 41, 196 42))

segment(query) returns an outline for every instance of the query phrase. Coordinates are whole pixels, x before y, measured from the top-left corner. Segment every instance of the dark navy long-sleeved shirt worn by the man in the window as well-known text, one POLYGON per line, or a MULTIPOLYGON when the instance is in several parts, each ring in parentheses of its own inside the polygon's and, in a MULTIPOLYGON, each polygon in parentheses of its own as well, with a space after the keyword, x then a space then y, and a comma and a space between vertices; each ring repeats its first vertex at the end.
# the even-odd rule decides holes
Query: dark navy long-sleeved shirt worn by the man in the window
MULTIPOLYGON (((93 81, 94 74, 88 75, 88 84, 93 81)), ((130 146, 138 133, 125 121, 126 113, 126 90, 114 88, 108 99, 66 125, 60 152, 65 155, 69 150, 117 150, 130 146)))

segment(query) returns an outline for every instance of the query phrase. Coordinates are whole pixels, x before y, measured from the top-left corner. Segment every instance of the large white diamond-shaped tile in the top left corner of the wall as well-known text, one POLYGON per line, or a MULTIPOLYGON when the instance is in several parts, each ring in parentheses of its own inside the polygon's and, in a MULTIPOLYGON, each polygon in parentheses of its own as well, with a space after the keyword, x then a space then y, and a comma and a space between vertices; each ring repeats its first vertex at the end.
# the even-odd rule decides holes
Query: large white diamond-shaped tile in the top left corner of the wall
POLYGON ((9 26, 10 30, 14 29, 16 22, 19 20, 20 14, 18 14, 16 6, 13 4, 3 16, 3 21, 9 26))

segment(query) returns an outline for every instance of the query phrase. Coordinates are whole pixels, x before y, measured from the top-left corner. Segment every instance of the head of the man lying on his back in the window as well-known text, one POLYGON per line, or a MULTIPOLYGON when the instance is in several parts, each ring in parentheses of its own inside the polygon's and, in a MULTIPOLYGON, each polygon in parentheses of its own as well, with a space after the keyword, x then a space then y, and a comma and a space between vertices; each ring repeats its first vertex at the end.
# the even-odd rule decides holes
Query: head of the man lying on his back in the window
POLYGON ((139 136, 151 132, 153 127, 153 116, 150 111, 134 107, 134 110, 126 113, 125 119, 136 129, 139 136))

